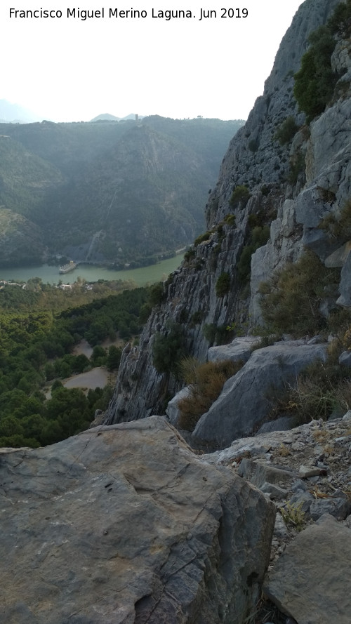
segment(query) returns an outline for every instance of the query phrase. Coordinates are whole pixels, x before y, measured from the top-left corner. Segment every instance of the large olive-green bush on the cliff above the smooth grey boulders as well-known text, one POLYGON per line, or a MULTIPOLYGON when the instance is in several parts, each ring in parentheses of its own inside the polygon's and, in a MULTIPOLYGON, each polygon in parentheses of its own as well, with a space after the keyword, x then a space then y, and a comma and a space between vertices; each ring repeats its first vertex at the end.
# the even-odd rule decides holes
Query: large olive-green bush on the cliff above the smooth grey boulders
POLYGON ((288 263, 260 284, 263 319, 272 332, 295 336, 316 334, 326 328, 319 311, 324 287, 339 281, 340 270, 327 269, 318 256, 307 251, 296 263, 288 263))

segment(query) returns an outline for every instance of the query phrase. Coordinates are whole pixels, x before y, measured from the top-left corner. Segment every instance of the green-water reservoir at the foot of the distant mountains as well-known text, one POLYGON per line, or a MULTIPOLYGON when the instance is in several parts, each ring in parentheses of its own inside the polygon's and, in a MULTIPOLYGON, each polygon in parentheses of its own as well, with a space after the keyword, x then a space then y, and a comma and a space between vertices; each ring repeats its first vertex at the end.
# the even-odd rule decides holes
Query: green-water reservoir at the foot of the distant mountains
POLYGON ((125 269, 122 271, 81 264, 72 272, 63 275, 59 274, 58 267, 50 265, 0 268, 0 279, 6 279, 6 281, 28 281, 31 277, 40 277, 44 284, 58 284, 60 280, 62 284, 73 284, 74 281, 77 281, 77 277, 82 277, 86 279, 86 281, 98 281, 99 279, 131 279, 135 281, 137 286, 146 286, 147 284, 154 284, 156 281, 167 279, 170 273, 178 269, 182 260, 183 253, 180 253, 174 256, 174 258, 161 260, 157 265, 140 267, 139 269, 125 269))

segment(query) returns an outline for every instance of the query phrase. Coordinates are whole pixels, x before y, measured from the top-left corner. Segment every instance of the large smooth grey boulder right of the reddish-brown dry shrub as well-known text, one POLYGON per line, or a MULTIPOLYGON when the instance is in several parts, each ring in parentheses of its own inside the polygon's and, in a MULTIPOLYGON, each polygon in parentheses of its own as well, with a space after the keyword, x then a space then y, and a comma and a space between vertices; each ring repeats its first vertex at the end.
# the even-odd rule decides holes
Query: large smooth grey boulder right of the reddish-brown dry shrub
POLYGON ((192 434, 192 444, 225 449, 234 439, 253 434, 272 409, 272 387, 282 387, 284 381, 296 383, 296 375, 317 359, 326 359, 326 345, 285 341, 254 351, 201 416, 192 434))

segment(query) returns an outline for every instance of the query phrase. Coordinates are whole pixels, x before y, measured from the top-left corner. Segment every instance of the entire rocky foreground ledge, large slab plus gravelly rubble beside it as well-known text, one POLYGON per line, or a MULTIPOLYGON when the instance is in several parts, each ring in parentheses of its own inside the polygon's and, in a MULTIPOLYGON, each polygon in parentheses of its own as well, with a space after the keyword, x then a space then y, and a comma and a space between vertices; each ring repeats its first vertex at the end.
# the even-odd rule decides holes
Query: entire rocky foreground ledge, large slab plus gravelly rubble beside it
POLYGON ((203 455, 161 416, 2 449, 0 621, 349 624, 350 456, 351 411, 203 455))

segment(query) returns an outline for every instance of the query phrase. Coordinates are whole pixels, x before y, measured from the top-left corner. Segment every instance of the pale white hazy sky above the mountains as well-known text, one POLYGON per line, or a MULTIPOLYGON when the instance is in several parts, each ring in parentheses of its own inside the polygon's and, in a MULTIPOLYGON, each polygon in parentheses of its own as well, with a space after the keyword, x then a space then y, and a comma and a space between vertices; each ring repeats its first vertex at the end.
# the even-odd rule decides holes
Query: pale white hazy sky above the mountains
POLYGON ((0 99, 53 121, 88 121, 105 112, 246 119, 300 4, 1 0, 0 99), (248 17, 231 18, 237 7, 246 8, 248 17), (10 8, 61 11, 62 17, 10 18, 10 8), (104 8, 105 16, 67 17, 67 9, 74 8, 76 15, 78 8, 100 13, 104 8), (110 18, 110 8, 147 15, 110 18), (183 10, 194 17, 153 18, 152 8, 154 15, 183 10), (199 20, 201 8, 212 17, 199 20))

